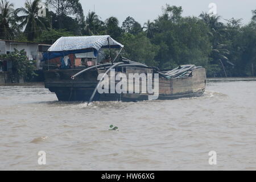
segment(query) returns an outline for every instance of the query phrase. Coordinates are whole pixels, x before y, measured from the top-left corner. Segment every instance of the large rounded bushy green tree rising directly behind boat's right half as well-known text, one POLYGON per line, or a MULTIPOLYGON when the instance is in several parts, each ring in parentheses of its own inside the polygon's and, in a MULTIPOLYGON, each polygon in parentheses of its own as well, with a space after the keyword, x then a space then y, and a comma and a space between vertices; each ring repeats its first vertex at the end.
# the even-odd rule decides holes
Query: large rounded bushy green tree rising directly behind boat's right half
POLYGON ((181 64, 208 64, 210 42, 208 27, 198 18, 181 18, 179 7, 167 6, 155 20, 156 32, 152 42, 160 49, 155 56, 160 68, 174 68, 181 64), (168 12, 168 13, 167 13, 168 12))

